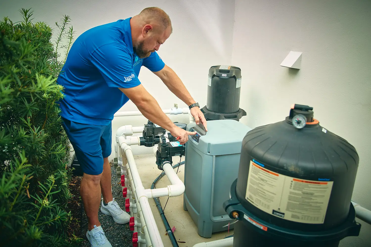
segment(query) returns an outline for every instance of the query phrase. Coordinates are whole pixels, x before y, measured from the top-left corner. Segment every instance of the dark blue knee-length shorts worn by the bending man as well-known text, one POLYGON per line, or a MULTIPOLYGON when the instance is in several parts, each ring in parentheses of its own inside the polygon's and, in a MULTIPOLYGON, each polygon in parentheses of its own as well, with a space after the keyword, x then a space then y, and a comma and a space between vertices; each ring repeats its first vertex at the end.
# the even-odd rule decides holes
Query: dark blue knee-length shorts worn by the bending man
POLYGON ((101 174, 103 158, 112 151, 112 123, 102 126, 76 123, 63 117, 62 120, 82 171, 89 175, 101 174))

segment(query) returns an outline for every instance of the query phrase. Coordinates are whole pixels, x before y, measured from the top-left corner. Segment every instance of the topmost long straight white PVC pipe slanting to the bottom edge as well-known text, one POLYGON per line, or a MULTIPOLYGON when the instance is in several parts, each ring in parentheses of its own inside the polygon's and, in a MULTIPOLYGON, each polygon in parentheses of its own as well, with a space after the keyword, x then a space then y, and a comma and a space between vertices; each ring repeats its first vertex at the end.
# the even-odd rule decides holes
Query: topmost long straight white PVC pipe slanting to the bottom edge
POLYGON ((148 234, 151 239, 152 246, 164 247, 164 244, 162 243, 162 240, 161 240, 160 232, 158 231, 156 221, 152 214, 150 203, 148 202, 147 194, 143 187, 142 181, 139 177, 139 173, 137 170, 137 166, 135 164, 135 160, 134 160, 133 153, 131 151, 131 147, 128 146, 125 142, 122 142, 122 138, 119 138, 119 145, 121 147, 121 150, 122 149, 124 150, 127 160, 128 160, 128 166, 130 168, 130 173, 131 173, 132 180, 133 180, 134 187, 135 187, 135 195, 136 195, 135 199, 140 204, 141 212, 142 212, 141 214, 143 214, 143 219, 147 226, 147 230, 148 230, 148 234))

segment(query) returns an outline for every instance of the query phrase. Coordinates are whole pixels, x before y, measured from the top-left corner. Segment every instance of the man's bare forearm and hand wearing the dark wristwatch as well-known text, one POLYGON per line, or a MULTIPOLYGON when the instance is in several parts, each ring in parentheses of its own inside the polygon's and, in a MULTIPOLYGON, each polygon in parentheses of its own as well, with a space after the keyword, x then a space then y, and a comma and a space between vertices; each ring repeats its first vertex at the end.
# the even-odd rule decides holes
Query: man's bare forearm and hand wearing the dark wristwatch
MULTIPOLYGON (((169 66, 165 64, 165 67, 162 70, 153 73, 164 82, 167 88, 174 93, 175 96, 187 104, 187 106, 196 103, 178 75, 169 66)), ((206 119, 199 107, 191 108, 191 114, 197 124, 201 121, 201 123, 206 127, 206 119)))

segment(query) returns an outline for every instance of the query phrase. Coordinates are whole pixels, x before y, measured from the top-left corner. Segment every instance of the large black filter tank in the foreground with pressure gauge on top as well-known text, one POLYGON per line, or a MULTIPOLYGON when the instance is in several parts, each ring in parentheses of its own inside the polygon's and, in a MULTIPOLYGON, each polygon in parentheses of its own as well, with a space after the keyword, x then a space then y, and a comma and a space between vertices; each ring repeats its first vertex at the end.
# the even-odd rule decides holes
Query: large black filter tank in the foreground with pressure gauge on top
POLYGON ((351 203, 359 157, 348 141, 295 104, 286 120, 249 131, 224 209, 233 247, 338 247, 358 236, 351 203))

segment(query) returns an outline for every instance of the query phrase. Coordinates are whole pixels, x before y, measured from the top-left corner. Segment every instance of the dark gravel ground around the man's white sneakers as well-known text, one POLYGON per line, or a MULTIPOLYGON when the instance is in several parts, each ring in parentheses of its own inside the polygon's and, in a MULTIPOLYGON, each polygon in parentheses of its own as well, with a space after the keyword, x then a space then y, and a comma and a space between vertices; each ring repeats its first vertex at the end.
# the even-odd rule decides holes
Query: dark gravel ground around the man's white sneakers
MULTIPOLYGON (((125 211, 125 199, 122 197, 122 188, 121 182, 118 180, 116 175, 116 170, 111 163, 111 173, 112 173, 112 195, 122 208, 125 211)), ((83 207, 83 206, 82 206, 83 207)), ((88 230, 88 219, 86 218, 85 211, 82 209, 82 218, 81 218, 81 234, 82 238, 85 239, 82 243, 82 247, 90 247, 89 241, 86 239, 86 231, 88 230)), ((128 212, 130 214, 130 212, 128 212)), ((104 233, 108 241, 112 244, 113 247, 132 247, 132 235, 133 232, 129 228, 129 223, 127 224, 117 224, 111 216, 101 213, 99 208, 98 219, 102 225, 104 233)))

